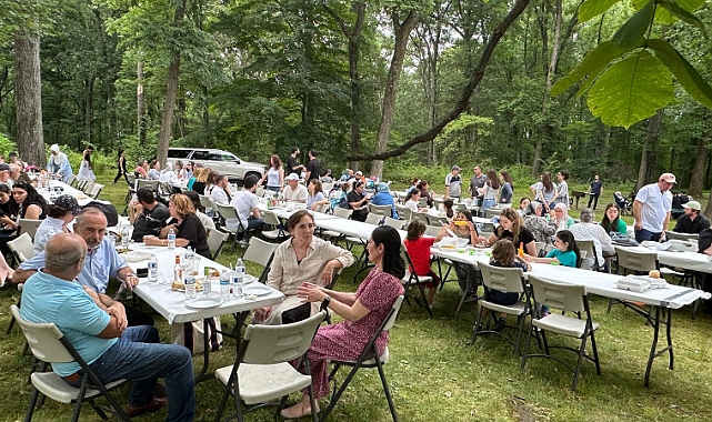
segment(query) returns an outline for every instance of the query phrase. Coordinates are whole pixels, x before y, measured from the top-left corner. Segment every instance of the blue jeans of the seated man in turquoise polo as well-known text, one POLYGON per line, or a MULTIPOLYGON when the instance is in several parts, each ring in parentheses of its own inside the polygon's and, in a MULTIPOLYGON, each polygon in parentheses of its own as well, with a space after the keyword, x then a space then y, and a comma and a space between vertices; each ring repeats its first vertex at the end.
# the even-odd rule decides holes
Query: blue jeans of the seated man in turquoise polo
MULTIPOLYGON (((192 421, 195 416, 193 359, 179 344, 159 343, 158 330, 150 325, 129 326, 98 360, 89 365, 104 383, 129 379, 129 405, 144 406, 153 400, 158 378, 166 379, 167 421, 192 421)), ((74 385, 79 386, 79 385, 74 385)))

